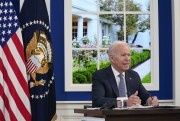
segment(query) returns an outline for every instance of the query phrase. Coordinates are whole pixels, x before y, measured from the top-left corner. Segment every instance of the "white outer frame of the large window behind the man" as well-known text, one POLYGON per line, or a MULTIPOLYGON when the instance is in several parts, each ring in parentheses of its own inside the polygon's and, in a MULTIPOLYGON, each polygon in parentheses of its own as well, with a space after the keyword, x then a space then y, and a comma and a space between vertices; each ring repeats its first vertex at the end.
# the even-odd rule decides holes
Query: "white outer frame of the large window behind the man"
MULTIPOLYGON (((65 91, 91 91, 92 84, 73 84, 72 80, 72 0, 64 1, 64 62, 65 91), (70 24, 71 23, 71 24, 70 24), (70 34, 71 33, 71 36, 70 34)), ((150 0, 151 25, 151 83, 144 84, 148 91, 159 90, 159 32, 158 32, 158 0, 150 0)), ((126 24, 126 23, 124 23, 126 24)), ((98 43, 98 42, 97 42, 98 43)), ((99 48, 92 48, 93 50, 99 48)), ((78 50, 78 48, 77 48, 78 50)), ((84 50, 84 49, 83 49, 84 50)), ((88 48, 90 50, 90 48, 88 48)), ((98 63, 99 64, 99 63, 98 63)))

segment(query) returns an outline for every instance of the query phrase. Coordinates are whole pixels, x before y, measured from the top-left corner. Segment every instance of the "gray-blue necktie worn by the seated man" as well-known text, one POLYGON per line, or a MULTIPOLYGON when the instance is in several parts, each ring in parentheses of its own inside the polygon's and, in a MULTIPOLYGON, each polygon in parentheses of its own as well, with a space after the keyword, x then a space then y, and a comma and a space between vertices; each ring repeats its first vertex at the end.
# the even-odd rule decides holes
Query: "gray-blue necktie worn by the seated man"
POLYGON ((119 74, 120 82, 119 82, 119 97, 126 97, 125 93, 125 80, 123 78, 123 74, 119 74))

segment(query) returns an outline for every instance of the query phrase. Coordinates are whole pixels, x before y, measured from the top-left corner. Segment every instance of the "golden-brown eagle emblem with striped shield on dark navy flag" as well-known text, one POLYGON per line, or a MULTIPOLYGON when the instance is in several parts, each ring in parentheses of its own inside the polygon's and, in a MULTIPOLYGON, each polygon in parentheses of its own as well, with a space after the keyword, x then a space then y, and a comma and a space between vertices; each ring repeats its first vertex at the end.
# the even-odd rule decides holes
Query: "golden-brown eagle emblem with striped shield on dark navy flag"
POLYGON ((34 82, 30 82, 30 88, 44 86, 46 80, 36 79, 36 73, 45 74, 52 63, 52 48, 43 31, 36 31, 26 47, 26 68, 34 82))

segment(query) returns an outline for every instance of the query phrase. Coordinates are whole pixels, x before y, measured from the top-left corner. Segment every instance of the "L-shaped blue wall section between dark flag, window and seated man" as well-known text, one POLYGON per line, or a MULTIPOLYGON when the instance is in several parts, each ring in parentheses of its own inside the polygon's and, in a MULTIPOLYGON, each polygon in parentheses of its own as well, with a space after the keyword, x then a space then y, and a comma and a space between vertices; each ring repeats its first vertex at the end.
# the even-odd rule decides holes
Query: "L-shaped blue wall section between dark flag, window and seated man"
MULTIPOLYGON (((65 92, 64 83, 64 1, 51 1, 51 33, 54 48, 54 69, 57 101, 91 100, 90 92, 65 92)), ((69 43, 71 44, 71 43, 69 43)))

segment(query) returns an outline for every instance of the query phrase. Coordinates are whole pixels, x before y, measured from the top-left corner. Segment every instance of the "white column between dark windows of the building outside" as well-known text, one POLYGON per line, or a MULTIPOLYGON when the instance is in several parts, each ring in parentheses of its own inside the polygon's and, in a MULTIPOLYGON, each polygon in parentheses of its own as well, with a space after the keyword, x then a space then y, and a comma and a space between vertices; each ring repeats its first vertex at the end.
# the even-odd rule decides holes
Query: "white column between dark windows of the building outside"
POLYGON ((81 39, 83 37, 83 18, 78 18, 78 32, 77 32, 77 39, 81 39))

